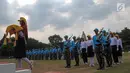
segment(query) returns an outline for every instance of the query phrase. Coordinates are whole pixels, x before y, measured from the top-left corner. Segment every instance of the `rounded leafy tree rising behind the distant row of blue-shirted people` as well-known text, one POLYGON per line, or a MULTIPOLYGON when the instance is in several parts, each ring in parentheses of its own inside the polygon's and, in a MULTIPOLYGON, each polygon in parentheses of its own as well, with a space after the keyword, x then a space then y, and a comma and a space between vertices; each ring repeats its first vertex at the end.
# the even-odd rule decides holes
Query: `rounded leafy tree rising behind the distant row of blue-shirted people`
POLYGON ((62 42, 63 38, 60 35, 52 35, 48 37, 48 40, 52 47, 60 47, 60 43, 62 42))

